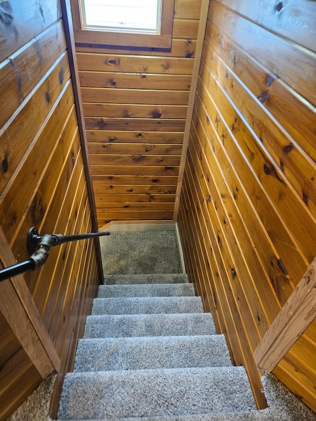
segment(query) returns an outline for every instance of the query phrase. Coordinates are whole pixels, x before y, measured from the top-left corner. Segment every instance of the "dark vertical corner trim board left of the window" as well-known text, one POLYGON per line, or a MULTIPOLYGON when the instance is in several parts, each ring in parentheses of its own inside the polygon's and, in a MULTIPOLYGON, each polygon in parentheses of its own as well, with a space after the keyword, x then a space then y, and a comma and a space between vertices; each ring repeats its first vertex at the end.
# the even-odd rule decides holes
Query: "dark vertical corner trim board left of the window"
MULTIPOLYGON (((92 175, 91 175, 89 155, 88 155, 88 144, 87 144, 87 136, 86 136, 86 130, 85 130, 83 106, 82 106, 81 91, 80 91, 79 70, 78 70, 78 64, 77 64, 77 58, 76 58, 76 47, 75 47, 71 8, 70 8, 70 0, 61 0, 60 6, 61 6, 61 11, 62 11, 62 16, 63 16, 66 45, 67 45, 68 59, 69 59, 69 65, 70 65, 70 73, 71 73, 71 79, 72 79, 73 90, 74 90, 74 99, 75 99, 77 118, 78 118, 80 143, 81 143, 81 150, 82 150, 82 155, 83 155, 83 165, 84 165, 88 197, 89 197, 89 203, 90 203, 90 209, 91 209, 92 229, 93 229, 93 232, 98 232, 98 220, 97 220, 97 214, 96 214, 92 175)), ((97 257, 97 262, 98 262, 98 277, 99 277, 100 283, 102 283, 103 282, 103 269, 102 269, 101 249, 100 249, 99 238, 94 239, 94 244, 96 248, 96 257, 97 257)))

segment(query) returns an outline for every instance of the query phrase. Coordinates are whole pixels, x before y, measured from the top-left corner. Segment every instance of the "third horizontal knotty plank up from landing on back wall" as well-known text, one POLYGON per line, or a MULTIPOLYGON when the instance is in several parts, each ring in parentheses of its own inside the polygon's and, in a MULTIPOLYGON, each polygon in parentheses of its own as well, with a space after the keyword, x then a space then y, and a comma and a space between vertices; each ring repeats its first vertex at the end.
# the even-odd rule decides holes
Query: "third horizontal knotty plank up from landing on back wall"
MULTIPOLYGON (((125 193, 125 192, 124 192, 125 193)), ((130 194, 132 192, 127 192, 125 194, 95 194, 95 202, 102 204, 109 204, 110 203, 142 203, 142 202, 150 202, 150 203, 157 203, 157 202, 173 202, 175 201, 175 194, 130 194), (126 195, 128 193, 128 195, 126 195)))

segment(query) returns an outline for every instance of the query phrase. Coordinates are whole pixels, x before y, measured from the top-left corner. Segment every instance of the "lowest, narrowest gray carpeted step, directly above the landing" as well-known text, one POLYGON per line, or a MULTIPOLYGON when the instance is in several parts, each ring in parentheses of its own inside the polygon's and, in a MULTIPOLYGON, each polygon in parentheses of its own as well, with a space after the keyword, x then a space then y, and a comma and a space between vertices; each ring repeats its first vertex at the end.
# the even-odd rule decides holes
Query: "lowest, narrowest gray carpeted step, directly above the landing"
POLYGON ((175 284, 188 283, 186 273, 139 274, 139 275, 105 275, 104 284, 175 284))

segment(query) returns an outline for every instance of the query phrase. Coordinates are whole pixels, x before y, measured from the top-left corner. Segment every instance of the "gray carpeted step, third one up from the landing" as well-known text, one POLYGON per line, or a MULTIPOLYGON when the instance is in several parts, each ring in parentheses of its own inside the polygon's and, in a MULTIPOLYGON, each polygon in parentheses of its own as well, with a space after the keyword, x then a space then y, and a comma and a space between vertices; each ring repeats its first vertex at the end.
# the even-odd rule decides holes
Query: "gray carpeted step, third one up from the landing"
POLYGON ((92 315, 202 313, 203 311, 200 297, 96 298, 92 306, 92 315))

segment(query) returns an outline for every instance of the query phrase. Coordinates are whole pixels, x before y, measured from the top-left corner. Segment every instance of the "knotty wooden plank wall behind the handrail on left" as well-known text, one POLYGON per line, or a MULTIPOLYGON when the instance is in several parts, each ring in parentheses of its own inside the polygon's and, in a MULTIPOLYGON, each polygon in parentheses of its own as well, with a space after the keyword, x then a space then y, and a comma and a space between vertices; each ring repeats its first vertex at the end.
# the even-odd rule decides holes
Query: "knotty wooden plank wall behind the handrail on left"
MULTIPOLYGON (((17 261, 28 230, 90 231, 91 210, 58 0, 0 3, 0 221, 17 261)), ((98 274, 92 240, 52 248, 25 280, 62 360, 73 365, 98 274)), ((0 420, 41 377, 0 313, 0 420)))

